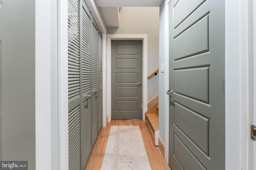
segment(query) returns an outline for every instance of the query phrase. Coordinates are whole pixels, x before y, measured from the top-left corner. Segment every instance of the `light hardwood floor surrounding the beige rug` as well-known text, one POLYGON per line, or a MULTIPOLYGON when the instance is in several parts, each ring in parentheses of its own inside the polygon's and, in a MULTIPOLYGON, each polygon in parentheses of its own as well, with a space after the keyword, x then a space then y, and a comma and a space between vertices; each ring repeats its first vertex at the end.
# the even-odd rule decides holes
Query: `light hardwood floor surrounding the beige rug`
POLYGON ((112 120, 107 123, 107 126, 100 132, 98 140, 95 144, 94 150, 86 167, 86 170, 100 170, 104 152, 108 141, 108 135, 110 127, 113 125, 134 125, 140 126, 142 139, 148 155, 148 160, 152 170, 170 170, 168 164, 166 164, 160 149, 154 146, 154 138, 146 122, 142 120, 112 120))

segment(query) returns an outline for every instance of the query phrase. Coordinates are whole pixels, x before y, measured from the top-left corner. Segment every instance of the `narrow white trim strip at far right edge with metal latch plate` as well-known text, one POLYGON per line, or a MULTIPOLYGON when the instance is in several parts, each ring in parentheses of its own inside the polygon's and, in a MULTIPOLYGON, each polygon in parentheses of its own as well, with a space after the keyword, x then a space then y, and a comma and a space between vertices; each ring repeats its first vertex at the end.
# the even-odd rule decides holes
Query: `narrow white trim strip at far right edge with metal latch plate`
POLYGON ((248 71, 247 101, 248 101, 248 169, 256 169, 256 142, 250 139, 250 125, 256 125, 256 2, 248 0, 248 71))

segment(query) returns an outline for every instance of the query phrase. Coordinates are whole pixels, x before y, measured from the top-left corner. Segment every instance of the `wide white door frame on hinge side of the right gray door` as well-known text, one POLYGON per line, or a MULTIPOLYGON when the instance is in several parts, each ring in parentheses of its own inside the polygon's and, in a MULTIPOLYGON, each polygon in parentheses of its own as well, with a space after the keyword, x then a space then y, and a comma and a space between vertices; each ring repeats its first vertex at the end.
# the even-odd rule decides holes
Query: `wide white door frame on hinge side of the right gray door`
POLYGON ((226 169, 248 170, 246 134, 247 0, 225 1, 226 169), (236 127, 236 129, 234 129, 236 127), (235 139, 235 140, 234 140, 235 139))

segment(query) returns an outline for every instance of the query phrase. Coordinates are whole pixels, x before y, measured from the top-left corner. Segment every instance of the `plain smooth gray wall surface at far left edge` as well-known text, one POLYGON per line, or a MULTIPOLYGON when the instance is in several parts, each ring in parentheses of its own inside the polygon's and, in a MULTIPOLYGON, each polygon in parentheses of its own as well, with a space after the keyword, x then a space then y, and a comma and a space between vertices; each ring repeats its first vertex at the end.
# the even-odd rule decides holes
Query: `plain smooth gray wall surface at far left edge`
POLYGON ((3 0, 1 53, 2 160, 35 170, 35 0, 3 0))

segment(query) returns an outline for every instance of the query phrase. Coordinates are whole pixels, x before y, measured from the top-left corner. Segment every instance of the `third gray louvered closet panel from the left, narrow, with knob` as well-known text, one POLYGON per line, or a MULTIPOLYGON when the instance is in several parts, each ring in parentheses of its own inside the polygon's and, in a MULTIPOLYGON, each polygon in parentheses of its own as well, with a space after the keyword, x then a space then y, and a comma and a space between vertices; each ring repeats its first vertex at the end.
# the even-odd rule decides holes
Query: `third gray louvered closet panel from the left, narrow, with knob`
POLYGON ((92 147, 94 147, 98 135, 98 31, 92 23, 92 147))

